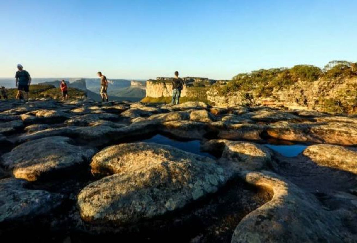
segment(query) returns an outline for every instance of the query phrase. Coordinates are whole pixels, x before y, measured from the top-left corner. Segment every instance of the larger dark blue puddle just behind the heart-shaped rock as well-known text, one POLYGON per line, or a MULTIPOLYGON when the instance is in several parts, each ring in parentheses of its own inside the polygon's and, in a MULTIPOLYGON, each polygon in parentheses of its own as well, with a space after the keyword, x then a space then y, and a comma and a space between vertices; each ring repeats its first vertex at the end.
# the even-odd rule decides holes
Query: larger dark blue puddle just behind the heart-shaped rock
POLYGON ((157 134, 152 138, 141 140, 140 142, 170 145, 172 147, 181 149, 186 152, 190 152, 193 154, 199 154, 199 155, 203 155, 206 157, 210 157, 212 159, 216 159, 216 157, 213 156, 212 154, 201 151, 201 141, 200 140, 190 140, 190 141, 182 142, 182 141, 170 139, 163 135, 157 134))

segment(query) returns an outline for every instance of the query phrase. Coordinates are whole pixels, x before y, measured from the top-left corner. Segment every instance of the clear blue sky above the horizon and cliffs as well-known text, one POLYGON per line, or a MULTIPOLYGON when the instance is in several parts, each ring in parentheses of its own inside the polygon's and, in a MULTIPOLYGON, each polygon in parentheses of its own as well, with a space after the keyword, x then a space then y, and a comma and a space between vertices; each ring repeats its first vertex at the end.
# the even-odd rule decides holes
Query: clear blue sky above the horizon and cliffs
POLYGON ((0 0, 0 77, 230 79, 357 61, 357 1, 0 0))

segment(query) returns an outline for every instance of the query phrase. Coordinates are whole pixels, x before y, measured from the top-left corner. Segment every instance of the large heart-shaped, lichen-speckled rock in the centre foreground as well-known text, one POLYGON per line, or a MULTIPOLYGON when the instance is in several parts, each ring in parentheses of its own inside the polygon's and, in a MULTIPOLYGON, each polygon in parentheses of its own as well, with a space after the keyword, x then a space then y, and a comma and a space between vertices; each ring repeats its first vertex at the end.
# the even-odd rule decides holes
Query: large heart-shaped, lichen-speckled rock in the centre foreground
POLYGON ((114 145, 97 153, 92 172, 112 174, 78 195, 87 222, 136 223, 216 192, 231 177, 215 160, 155 143, 114 145))

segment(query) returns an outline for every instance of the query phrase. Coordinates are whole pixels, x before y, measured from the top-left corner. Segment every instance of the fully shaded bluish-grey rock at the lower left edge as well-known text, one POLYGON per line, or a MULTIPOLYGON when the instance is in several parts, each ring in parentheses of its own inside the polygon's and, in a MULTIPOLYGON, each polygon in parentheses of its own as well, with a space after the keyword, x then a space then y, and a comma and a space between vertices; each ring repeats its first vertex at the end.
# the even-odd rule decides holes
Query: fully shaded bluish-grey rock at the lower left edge
POLYGON ((24 188, 27 182, 14 178, 0 180, 0 225, 4 229, 14 222, 31 222, 57 208, 64 196, 43 190, 24 188))

